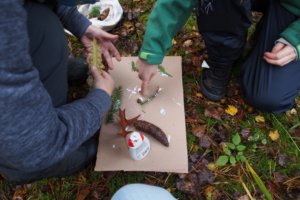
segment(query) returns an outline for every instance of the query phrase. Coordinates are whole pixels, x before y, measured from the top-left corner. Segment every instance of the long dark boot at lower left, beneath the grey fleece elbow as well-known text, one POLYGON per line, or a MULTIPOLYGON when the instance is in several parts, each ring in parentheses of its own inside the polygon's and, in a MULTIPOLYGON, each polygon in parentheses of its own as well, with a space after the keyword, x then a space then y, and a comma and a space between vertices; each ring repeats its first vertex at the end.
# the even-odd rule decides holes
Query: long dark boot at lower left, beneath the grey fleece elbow
POLYGON ((54 166, 42 172, 26 173, 20 170, 9 169, 0 166, 0 171, 5 180, 14 185, 22 185, 38 181, 46 177, 65 177, 79 172, 89 166, 91 161, 96 158, 98 150, 98 139, 91 137, 80 145, 73 153, 64 160, 56 163, 54 166))

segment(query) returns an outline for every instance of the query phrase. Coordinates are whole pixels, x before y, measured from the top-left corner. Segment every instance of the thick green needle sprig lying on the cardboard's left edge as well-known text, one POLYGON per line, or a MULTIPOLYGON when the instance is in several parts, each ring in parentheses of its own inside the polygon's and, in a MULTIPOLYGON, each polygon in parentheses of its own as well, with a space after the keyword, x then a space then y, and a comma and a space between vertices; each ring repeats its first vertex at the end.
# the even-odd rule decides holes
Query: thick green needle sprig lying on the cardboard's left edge
POLYGON ((115 114, 116 112, 119 111, 119 108, 121 106, 121 101, 122 101, 122 95, 123 95, 122 89, 123 89, 122 85, 118 85, 118 87, 115 87, 115 89, 113 90, 113 94, 110 96, 112 100, 112 105, 110 107, 110 110, 108 111, 107 125, 109 123, 114 122, 115 114))

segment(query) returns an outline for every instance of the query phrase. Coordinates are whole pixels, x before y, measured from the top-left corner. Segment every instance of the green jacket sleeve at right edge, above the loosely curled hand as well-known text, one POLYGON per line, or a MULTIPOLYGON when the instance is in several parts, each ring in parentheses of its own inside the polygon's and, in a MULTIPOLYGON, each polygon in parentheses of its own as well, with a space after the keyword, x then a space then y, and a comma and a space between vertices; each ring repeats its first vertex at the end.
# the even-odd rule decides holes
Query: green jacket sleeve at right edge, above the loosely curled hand
POLYGON ((299 55, 298 61, 300 58, 300 18, 289 25, 279 36, 289 41, 296 48, 299 55))

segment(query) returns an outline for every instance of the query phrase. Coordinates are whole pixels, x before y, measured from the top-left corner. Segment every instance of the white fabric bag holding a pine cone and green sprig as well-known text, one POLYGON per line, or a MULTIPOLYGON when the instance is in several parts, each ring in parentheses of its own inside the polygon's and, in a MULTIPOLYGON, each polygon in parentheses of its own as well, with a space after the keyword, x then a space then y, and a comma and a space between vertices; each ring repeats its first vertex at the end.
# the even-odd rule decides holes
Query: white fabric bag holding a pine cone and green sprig
MULTIPOLYGON (((92 22, 92 25, 101 28, 104 31, 110 31, 113 29, 117 23, 121 20, 123 15, 123 9, 118 0, 100 0, 95 4, 84 4, 79 7, 78 11, 82 13, 84 16, 88 14, 88 11, 95 5, 101 6, 100 13, 102 13, 105 9, 110 8, 110 12, 106 19, 103 21, 98 20, 97 17, 89 19, 92 22)), ((88 18, 89 16, 87 16, 88 18)), ((74 36, 70 31, 64 29, 66 33, 74 36)))

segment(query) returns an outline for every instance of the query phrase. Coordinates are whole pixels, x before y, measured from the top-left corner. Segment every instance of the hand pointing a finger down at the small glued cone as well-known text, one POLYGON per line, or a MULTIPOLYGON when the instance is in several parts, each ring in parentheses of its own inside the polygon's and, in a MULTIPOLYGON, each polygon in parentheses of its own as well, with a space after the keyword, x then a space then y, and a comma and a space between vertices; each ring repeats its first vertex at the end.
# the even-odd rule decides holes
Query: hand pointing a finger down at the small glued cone
POLYGON ((143 80, 141 86, 141 95, 146 91, 147 85, 151 82, 153 76, 157 73, 157 64, 147 64, 146 60, 141 58, 137 59, 136 62, 137 70, 139 71, 139 76, 143 80))

